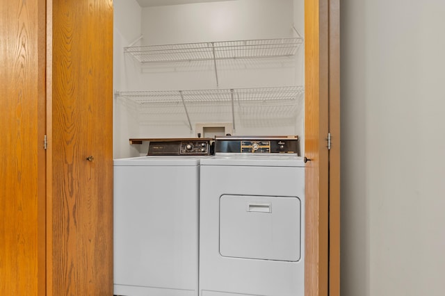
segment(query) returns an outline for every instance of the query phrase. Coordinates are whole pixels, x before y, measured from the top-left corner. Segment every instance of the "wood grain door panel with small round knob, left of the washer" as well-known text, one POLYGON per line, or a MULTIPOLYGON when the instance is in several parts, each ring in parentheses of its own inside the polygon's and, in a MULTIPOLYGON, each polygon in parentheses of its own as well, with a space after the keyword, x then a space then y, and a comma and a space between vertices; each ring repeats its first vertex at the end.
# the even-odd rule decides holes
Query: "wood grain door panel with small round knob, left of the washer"
POLYGON ((112 295, 113 3, 52 15, 52 293, 112 295))

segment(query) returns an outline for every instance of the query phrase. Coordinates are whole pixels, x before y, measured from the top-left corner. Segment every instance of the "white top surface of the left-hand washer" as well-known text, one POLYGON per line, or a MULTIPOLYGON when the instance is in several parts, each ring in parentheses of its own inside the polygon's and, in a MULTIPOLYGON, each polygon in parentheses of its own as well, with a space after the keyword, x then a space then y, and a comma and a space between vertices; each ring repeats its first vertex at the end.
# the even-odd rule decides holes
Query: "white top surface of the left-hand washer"
POLYGON ((200 164, 202 156, 140 156, 118 158, 113 161, 115 166, 196 166, 200 164))

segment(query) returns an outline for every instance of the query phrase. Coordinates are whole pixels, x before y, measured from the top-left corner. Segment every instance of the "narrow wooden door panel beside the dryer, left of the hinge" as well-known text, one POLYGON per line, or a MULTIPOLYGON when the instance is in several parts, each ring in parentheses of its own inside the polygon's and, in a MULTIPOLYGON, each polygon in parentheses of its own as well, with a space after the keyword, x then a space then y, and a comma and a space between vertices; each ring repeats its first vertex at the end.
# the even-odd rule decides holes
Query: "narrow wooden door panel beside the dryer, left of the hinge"
POLYGON ((305 295, 328 295, 328 1, 305 1, 305 295))

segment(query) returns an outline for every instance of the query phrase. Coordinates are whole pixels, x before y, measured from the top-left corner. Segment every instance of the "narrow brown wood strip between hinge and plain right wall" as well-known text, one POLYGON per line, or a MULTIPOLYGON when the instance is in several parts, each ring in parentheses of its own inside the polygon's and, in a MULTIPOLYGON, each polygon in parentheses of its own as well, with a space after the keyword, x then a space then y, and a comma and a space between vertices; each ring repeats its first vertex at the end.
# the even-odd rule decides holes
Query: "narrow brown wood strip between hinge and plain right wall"
POLYGON ((340 1, 329 3, 329 295, 340 296, 340 1))

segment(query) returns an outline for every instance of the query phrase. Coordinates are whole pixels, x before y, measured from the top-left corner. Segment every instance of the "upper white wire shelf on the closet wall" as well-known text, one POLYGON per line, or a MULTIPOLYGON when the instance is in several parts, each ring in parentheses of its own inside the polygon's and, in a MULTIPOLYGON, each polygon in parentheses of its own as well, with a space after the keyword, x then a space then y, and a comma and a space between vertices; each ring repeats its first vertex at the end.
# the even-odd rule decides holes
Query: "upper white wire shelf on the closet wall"
POLYGON ((140 63, 293 56, 301 37, 124 47, 140 63))

